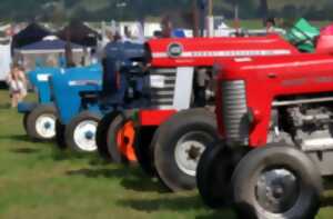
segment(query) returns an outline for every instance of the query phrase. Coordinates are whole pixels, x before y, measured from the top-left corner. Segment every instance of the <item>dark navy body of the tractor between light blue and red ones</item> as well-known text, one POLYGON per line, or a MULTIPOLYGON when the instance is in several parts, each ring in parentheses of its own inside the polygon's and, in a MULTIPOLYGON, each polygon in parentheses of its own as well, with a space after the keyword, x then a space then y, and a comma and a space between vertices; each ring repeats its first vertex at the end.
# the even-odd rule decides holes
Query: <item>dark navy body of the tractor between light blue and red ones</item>
POLYGON ((112 42, 105 47, 105 53, 103 90, 101 101, 99 101, 103 115, 113 110, 142 107, 144 103, 141 98, 131 99, 127 92, 129 89, 137 93, 143 92, 144 77, 131 73, 131 70, 135 68, 133 59, 140 60, 144 57, 143 44, 112 42), (115 84, 115 72, 120 73, 119 86, 115 84))

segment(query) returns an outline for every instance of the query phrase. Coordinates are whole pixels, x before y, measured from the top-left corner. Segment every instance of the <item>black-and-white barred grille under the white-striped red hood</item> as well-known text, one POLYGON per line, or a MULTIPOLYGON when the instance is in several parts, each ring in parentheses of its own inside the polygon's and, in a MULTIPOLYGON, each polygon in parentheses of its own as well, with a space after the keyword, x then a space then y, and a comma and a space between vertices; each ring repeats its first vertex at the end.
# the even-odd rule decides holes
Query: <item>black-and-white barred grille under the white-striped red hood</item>
POLYGON ((176 69, 150 70, 150 101, 152 109, 172 109, 176 69))

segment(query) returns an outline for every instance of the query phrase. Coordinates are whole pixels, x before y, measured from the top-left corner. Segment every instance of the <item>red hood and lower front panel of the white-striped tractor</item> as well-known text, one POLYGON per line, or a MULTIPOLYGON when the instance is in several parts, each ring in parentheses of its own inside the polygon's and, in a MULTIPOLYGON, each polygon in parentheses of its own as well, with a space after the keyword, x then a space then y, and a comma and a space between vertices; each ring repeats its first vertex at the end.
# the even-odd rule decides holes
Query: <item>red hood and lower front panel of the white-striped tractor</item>
MULTIPOLYGON (((152 68, 212 67, 218 59, 222 59, 214 52, 225 51, 286 50, 290 51, 291 54, 299 53, 292 44, 275 34, 246 38, 155 39, 150 40, 147 46, 152 53, 152 68), (169 57, 169 46, 175 42, 182 46, 184 54, 190 53, 192 57, 169 57), (204 52, 204 54, 202 52, 204 52), (154 57, 155 53, 160 53, 163 57, 154 57)), ((223 57, 223 59, 229 60, 233 57, 235 56, 230 54, 223 57)), ((141 126, 159 126, 175 112, 175 110, 165 111, 159 109, 141 110, 141 113, 139 113, 139 120, 141 126)))

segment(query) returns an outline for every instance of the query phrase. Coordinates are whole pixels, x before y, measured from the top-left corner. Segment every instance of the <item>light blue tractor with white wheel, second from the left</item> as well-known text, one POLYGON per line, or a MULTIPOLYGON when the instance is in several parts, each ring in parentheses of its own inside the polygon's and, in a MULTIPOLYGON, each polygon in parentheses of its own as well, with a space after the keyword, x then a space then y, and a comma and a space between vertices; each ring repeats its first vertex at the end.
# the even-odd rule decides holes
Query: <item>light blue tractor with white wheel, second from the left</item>
POLYGON ((102 89, 102 67, 94 64, 85 68, 70 68, 65 74, 57 74, 50 80, 54 104, 58 111, 56 121, 57 143, 64 149, 71 146, 82 151, 94 151, 95 126, 101 112, 95 100, 82 99, 83 93, 100 92, 102 89), (82 112, 82 113, 80 113, 82 112), (79 122, 73 131, 73 141, 65 139, 65 131, 73 118, 83 115, 87 119, 79 122))

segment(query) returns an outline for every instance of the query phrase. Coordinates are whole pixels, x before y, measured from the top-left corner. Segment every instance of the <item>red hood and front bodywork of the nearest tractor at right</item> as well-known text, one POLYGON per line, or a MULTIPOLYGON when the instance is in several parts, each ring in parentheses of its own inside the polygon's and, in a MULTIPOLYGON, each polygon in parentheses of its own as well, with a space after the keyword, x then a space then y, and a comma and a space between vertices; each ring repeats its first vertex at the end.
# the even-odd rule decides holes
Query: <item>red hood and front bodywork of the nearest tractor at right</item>
MULTIPOLYGON (((256 57, 248 62, 224 60, 218 84, 224 80, 244 80, 249 108, 255 112, 255 125, 250 132, 250 146, 265 146, 271 119, 272 101, 281 96, 333 91, 333 56, 297 54, 256 57)), ((216 92, 216 116, 223 136, 221 88, 216 92)))

